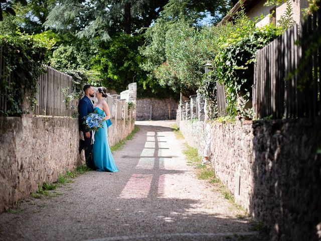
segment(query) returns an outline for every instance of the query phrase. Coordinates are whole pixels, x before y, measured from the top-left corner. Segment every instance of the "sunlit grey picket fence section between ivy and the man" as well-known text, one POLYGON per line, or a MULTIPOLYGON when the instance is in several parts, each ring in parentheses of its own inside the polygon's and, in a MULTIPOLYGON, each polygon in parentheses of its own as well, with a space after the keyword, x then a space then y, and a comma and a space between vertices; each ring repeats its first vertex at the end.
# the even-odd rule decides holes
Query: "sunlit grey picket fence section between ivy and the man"
MULTIPOLYGON (((63 90, 67 94, 72 90, 72 77, 68 74, 44 66, 46 73, 39 77, 39 89, 35 115, 71 116, 71 103, 66 105, 63 90)), ((74 101, 75 102, 75 101, 74 101)), ((72 103, 75 105, 75 103, 72 103)))

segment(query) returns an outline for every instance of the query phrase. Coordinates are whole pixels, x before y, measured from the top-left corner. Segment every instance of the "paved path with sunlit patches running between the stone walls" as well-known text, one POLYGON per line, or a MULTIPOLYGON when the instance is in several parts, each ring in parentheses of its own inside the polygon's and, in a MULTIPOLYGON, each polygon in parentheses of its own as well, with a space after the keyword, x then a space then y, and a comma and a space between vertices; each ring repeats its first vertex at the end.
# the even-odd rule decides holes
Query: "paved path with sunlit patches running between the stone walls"
POLYGON ((26 199, 19 214, 0 215, 0 240, 259 240, 197 179, 172 124, 137 122, 140 131, 114 154, 120 172, 90 171, 58 188, 62 195, 26 199))

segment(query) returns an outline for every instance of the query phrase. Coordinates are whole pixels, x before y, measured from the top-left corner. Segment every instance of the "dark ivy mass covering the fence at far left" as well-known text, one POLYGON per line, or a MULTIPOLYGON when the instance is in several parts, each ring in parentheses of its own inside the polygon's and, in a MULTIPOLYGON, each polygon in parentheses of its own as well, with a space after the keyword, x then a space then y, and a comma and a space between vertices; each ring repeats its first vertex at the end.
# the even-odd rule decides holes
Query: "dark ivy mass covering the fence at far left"
MULTIPOLYGON (((29 35, 16 32, 16 35, 0 36, 0 45, 3 47, 3 57, 6 63, 1 78, 0 88, 2 95, 7 97, 7 112, 2 115, 20 116, 23 114, 22 103, 25 97, 30 102, 32 110, 38 88, 38 77, 44 73, 42 63, 48 57, 48 52, 54 45, 46 34, 29 35), (8 78, 11 77, 11 82, 8 78)), ((26 110, 28 112, 28 110, 26 110)))

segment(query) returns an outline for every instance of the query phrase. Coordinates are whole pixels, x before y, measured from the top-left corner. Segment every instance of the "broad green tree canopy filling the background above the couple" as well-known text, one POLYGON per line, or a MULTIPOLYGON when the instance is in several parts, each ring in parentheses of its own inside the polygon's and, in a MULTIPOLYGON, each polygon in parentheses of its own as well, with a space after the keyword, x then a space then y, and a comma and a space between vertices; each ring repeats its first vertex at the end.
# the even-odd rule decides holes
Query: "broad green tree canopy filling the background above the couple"
MULTIPOLYGON (((139 96, 158 97, 178 96, 180 90, 190 89, 183 85, 169 88, 165 83, 170 75, 156 78, 157 69, 175 58, 175 52, 169 52, 167 36, 178 31, 178 39, 189 37, 184 28, 197 36, 204 18, 216 23, 231 8, 231 3, 223 0, 28 0, 27 6, 22 2, 2 4, 9 12, 4 13, 0 34, 15 35, 17 28, 45 34, 56 42, 46 58, 52 67, 97 71, 101 84, 117 92, 135 81, 139 96), (167 52, 172 57, 167 58, 167 52)), ((189 68, 193 63, 182 61, 181 65, 189 68)), ((177 76, 169 81, 177 81, 177 76)))

